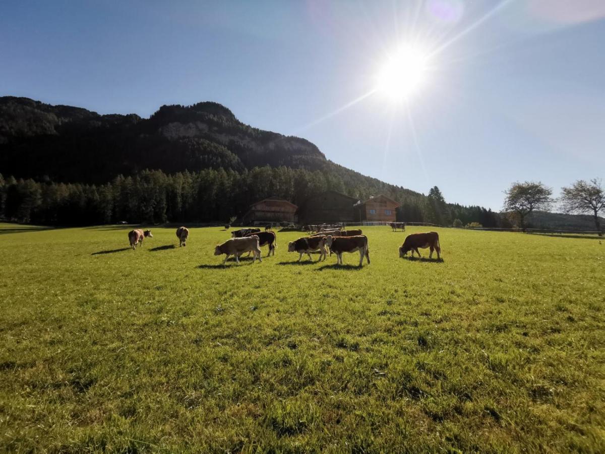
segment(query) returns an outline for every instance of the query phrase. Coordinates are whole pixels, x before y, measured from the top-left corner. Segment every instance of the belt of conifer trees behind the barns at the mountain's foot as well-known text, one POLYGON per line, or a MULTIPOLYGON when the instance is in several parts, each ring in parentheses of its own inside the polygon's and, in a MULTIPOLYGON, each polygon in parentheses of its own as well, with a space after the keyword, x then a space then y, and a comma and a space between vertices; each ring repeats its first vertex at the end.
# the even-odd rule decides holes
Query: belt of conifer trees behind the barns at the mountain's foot
MULTIPOLYGON (((338 170, 338 169, 337 169, 338 170)), ((333 190, 367 200, 385 194, 401 206, 397 220, 452 225, 454 219, 502 226, 497 213, 479 206, 448 204, 435 186, 428 196, 387 185, 351 171, 289 167, 203 169, 165 174, 145 170, 94 185, 15 179, 0 174, 0 217, 43 225, 103 223, 218 222, 241 219, 252 203, 281 197, 300 205, 313 194, 333 190)))

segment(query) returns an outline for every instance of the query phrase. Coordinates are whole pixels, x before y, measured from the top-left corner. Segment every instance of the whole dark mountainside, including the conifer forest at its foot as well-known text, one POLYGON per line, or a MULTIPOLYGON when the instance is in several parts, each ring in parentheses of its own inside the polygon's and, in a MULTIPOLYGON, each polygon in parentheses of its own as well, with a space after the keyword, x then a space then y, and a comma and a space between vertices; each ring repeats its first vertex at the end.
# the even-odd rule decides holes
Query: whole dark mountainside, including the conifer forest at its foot
POLYGON ((363 176, 214 102, 165 105, 143 119, 0 97, 0 172, 0 217, 19 222, 224 222, 264 197, 298 205, 333 189, 358 200, 385 194, 407 222, 509 225, 446 203, 436 186, 424 196, 363 176))

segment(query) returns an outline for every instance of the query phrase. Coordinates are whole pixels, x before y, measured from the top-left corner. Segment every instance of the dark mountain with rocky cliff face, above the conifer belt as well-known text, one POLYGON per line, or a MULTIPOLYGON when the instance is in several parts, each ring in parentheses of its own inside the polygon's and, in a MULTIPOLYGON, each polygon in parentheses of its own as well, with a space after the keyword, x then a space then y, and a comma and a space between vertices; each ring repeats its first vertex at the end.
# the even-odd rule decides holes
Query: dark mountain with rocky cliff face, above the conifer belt
POLYGON ((143 119, 0 97, 4 174, 101 183, 145 168, 174 173, 263 165, 315 170, 331 163, 308 140, 252 128, 214 102, 165 105, 143 119))

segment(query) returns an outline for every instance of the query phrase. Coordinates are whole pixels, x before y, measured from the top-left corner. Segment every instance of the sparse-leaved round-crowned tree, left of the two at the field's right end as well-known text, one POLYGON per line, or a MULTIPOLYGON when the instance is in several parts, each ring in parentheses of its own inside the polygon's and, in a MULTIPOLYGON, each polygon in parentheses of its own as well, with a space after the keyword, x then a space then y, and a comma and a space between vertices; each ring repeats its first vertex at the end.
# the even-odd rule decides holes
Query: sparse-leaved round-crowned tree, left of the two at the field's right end
POLYGON ((525 217, 535 209, 548 210, 552 205, 552 189, 541 182, 515 182, 508 191, 504 191, 504 209, 518 218, 525 232, 525 217))

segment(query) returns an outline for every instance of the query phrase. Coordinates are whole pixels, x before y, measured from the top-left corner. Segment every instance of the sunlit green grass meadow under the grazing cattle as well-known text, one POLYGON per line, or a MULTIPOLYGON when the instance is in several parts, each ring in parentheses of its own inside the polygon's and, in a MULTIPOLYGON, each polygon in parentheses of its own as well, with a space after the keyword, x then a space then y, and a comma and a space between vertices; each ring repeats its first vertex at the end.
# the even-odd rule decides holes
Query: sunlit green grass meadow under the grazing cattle
POLYGON ((601 240, 220 266, 222 228, 129 229, 0 225, 0 450, 605 452, 601 240))

